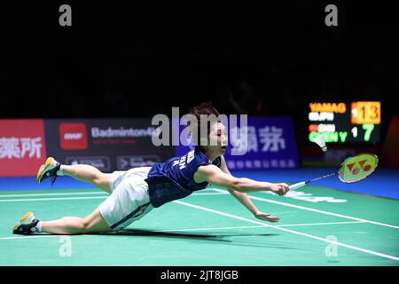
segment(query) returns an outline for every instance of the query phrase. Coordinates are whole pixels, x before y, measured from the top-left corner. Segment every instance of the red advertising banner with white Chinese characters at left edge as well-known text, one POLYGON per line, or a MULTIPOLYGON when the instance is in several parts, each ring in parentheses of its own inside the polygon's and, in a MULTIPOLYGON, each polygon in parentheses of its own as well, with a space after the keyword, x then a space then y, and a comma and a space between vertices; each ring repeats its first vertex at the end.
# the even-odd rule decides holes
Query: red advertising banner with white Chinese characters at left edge
POLYGON ((43 119, 0 120, 0 177, 35 176, 46 159, 43 119))

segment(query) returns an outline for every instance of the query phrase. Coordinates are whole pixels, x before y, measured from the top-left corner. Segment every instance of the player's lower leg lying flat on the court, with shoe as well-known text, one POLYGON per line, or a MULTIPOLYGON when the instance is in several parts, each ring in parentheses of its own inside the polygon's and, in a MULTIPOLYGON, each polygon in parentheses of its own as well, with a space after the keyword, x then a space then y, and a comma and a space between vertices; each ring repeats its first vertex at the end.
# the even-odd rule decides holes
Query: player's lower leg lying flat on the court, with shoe
POLYGON ((89 216, 63 217, 54 221, 39 221, 29 212, 13 227, 13 233, 52 233, 52 234, 83 234, 106 233, 112 231, 99 209, 95 209, 89 216))

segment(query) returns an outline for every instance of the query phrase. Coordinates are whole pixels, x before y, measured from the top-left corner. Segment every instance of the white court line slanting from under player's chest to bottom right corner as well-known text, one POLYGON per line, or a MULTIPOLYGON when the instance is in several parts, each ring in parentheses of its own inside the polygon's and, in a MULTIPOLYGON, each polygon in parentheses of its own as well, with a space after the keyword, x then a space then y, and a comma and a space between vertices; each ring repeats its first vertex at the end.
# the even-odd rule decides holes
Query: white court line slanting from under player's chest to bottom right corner
POLYGON ((177 204, 181 204, 181 205, 184 205, 184 206, 187 206, 187 207, 192 207, 192 208, 195 208, 195 209, 200 209, 200 210, 204 210, 204 211, 207 211, 207 212, 212 212, 212 213, 215 213, 215 214, 218 214, 218 215, 223 215, 225 217, 231 217, 231 218, 239 219, 239 220, 246 221, 246 222, 249 222, 249 223, 254 223, 254 224, 262 225, 262 226, 265 226, 265 227, 278 229, 280 231, 285 231, 285 232, 288 232, 288 233, 298 234, 298 235, 301 235, 301 236, 304 236, 304 237, 308 237, 308 238, 311 238, 311 239, 316 239, 316 240, 319 240, 319 241, 330 242, 332 244, 335 244, 335 245, 338 245, 338 246, 341 246, 341 247, 355 249, 355 250, 362 251, 364 253, 371 254, 371 255, 374 255, 374 256, 381 256, 381 257, 384 257, 384 258, 388 258, 388 259, 392 259, 392 260, 395 260, 395 261, 399 261, 399 257, 396 257, 396 256, 389 256, 389 255, 386 255, 386 254, 379 253, 377 251, 373 251, 373 250, 369 250, 369 249, 365 249, 365 248, 358 248, 358 247, 355 247, 355 246, 350 246, 350 245, 347 245, 347 244, 339 242, 339 241, 331 241, 331 240, 328 240, 328 239, 325 239, 325 238, 320 238, 320 237, 311 235, 309 233, 301 233, 301 232, 298 232, 298 231, 293 231, 293 230, 290 230, 290 229, 278 227, 277 225, 264 224, 262 222, 254 221, 254 220, 247 219, 247 218, 244 218, 244 217, 231 215, 231 214, 224 213, 222 211, 217 211, 217 210, 214 210, 214 209, 207 209, 205 207, 201 207, 201 206, 194 205, 194 204, 187 203, 187 202, 183 202, 183 201, 172 201, 172 202, 177 203, 177 204))

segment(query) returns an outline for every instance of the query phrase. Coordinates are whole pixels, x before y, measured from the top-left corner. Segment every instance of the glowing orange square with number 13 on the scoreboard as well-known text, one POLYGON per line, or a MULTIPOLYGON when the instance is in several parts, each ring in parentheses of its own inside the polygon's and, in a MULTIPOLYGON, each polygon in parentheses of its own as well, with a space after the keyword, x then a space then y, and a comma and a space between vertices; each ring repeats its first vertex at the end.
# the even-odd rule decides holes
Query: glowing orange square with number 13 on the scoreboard
POLYGON ((381 122, 381 103, 379 101, 356 101, 350 112, 352 124, 379 124, 381 122))

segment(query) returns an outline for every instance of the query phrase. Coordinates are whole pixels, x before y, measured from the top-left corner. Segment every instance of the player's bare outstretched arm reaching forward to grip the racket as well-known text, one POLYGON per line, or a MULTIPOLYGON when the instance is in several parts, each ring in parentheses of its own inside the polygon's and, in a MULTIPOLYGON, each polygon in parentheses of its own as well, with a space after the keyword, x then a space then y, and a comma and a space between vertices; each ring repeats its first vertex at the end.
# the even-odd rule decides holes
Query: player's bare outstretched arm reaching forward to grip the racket
POLYGON ((269 182, 255 181, 246 177, 233 177, 226 174, 215 165, 200 166, 194 175, 194 179, 198 183, 207 181, 212 185, 237 190, 241 193, 271 191, 278 195, 284 195, 289 190, 289 187, 286 184, 273 184, 269 182))

